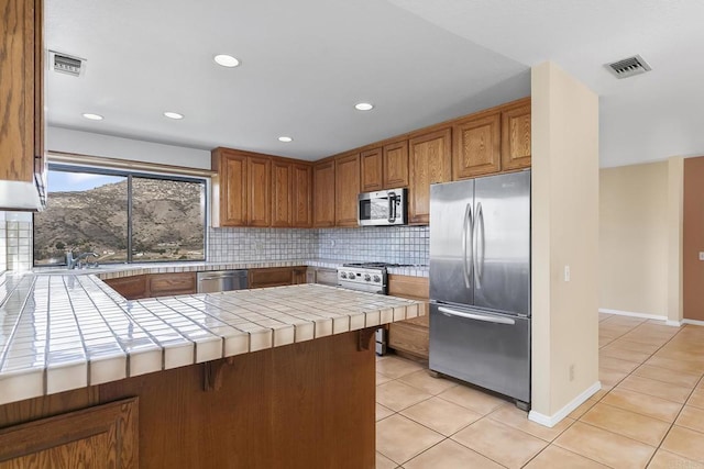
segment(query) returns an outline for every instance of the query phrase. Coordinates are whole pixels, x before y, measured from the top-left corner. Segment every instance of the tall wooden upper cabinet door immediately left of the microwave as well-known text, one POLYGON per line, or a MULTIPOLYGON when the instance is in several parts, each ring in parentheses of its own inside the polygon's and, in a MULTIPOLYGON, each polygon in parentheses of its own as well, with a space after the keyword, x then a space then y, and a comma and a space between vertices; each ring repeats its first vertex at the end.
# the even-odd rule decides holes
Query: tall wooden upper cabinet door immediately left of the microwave
POLYGON ((360 154, 342 156, 334 161, 334 224, 358 226, 356 205, 360 194, 360 154))

